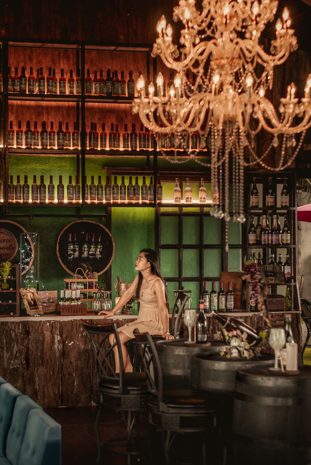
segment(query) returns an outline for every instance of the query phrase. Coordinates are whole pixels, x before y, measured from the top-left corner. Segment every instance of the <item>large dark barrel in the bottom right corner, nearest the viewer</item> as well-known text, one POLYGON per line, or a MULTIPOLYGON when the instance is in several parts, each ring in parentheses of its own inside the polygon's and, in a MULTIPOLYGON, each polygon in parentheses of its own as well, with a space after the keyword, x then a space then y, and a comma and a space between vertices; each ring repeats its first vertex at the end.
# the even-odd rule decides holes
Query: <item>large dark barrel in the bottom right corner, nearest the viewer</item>
POLYGON ((239 465, 311 463, 311 367, 298 375, 240 370, 233 402, 233 449, 239 465))

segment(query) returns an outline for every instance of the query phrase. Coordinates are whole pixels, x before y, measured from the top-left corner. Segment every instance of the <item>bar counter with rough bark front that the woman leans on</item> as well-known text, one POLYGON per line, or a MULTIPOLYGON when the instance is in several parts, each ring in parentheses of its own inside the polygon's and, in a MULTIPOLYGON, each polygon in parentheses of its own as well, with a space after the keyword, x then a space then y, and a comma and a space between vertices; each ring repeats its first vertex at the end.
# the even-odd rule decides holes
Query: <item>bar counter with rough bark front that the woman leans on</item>
MULTIPOLYGON (((272 326, 284 327, 284 314, 271 312, 272 326)), ((255 328, 264 324, 258 313, 228 315, 243 318, 255 328)), ((80 320, 90 324, 113 321, 119 327, 135 319, 137 314, 119 314, 105 320, 98 315, 3 317, 0 319, 0 375, 44 408, 94 405, 97 389, 93 353, 80 320)), ((291 312, 291 319, 293 336, 301 352, 300 312, 291 312)), ((214 339, 217 322, 212 319, 210 323, 209 339, 214 339)), ((180 336, 186 335, 187 329, 182 323, 180 336)), ((267 342, 264 347, 270 349, 267 342)))

